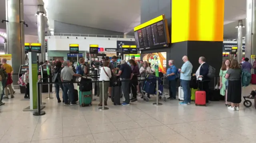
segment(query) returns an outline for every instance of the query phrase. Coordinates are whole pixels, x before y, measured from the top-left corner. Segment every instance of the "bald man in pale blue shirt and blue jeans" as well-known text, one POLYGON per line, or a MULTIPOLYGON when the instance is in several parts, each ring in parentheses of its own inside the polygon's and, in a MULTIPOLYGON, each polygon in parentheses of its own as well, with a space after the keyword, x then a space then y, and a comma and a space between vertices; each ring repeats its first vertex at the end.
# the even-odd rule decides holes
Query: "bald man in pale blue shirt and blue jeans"
POLYGON ((180 105, 188 105, 191 102, 191 91, 189 87, 189 83, 191 80, 191 73, 192 73, 192 64, 188 61, 188 57, 182 57, 182 61, 184 64, 182 65, 180 72, 180 82, 182 86, 182 90, 184 92, 184 101, 180 102, 180 105))

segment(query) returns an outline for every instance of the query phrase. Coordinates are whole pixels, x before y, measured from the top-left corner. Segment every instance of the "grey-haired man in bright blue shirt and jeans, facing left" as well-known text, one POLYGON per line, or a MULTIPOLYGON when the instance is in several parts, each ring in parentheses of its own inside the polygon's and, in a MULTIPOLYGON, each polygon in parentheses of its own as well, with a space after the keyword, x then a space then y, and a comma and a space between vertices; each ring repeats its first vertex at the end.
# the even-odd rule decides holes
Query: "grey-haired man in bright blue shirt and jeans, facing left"
POLYGON ((173 65, 173 60, 169 60, 168 65, 170 67, 167 69, 166 74, 167 74, 168 80, 169 80, 169 95, 170 95, 170 97, 168 97, 167 99, 175 100, 176 99, 176 78, 177 78, 178 70, 175 67, 175 65, 173 65))

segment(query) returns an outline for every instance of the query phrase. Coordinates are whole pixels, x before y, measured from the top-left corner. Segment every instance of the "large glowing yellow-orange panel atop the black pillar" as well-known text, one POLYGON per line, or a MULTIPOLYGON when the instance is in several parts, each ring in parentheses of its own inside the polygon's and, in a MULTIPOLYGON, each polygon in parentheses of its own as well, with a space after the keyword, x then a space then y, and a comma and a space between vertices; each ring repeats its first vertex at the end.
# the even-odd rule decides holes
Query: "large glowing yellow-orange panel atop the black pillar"
POLYGON ((172 0, 172 43, 223 41, 224 0, 172 0))

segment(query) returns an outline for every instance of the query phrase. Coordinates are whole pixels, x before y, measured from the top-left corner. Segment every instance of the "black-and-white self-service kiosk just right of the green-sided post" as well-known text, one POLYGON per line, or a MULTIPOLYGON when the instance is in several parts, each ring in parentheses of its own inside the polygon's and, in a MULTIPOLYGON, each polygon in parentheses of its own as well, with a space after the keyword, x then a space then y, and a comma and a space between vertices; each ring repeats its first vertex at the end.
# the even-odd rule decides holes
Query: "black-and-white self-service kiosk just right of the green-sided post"
MULTIPOLYGON (((50 78, 50 82, 52 82, 52 67, 50 65, 40 65, 39 72, 43 79, 42 82, 48 82, 48 78, 50 78)), ((48 84, 42 84, 42 93, 45 92, 48 92, 48 84)), ((50 84, 50 92, 52 92, 52 84, 50 84)))

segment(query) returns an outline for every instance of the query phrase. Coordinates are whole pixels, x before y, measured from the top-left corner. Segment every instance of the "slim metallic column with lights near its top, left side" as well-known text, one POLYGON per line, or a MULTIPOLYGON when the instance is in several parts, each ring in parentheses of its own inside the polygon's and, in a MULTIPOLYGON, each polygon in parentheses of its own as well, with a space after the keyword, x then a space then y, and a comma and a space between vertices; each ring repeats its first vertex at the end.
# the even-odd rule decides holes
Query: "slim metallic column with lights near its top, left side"
POLYGON ((37 26, 38 26, 38 42, 41 43, 41 54, 39 54, 39 61, 38 62, 44 62, 46 60, 45 57, 45 30, 44 30, 44 17, 46 14, 44 13, 44 6, 38 5, 37 10, 37 26))

